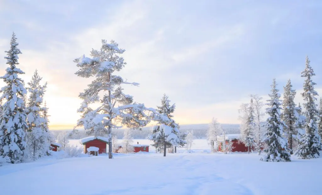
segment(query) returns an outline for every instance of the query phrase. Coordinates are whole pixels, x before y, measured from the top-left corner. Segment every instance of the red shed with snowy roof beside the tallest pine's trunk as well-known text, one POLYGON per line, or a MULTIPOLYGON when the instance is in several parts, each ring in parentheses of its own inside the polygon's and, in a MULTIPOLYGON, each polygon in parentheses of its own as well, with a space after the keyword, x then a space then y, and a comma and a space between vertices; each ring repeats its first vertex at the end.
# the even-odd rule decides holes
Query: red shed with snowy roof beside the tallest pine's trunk
POLYGON ((90 146, 99 148, 99 154, 108 152, 109 138, 100 136, 90 136, 80 140, 80 143, 84 145, 84 153, 87 153, 87 149, 90 146))

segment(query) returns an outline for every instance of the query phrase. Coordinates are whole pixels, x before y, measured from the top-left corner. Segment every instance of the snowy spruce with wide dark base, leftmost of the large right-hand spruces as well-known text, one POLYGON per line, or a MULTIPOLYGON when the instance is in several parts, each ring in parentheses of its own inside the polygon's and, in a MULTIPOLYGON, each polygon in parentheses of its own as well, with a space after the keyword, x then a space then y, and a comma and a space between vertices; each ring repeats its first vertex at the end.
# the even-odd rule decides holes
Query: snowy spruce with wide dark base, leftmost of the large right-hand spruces
POLYGON ((269 107, 266 109, 269 115, 265 127, 267 148, 264 149, 265 154, 261 161, 291 161, 287 140, 282 137, 285 123, 280 118, 281 100, 276 85, 276 80, 273 79, 270 100, 267 100, 269 107))

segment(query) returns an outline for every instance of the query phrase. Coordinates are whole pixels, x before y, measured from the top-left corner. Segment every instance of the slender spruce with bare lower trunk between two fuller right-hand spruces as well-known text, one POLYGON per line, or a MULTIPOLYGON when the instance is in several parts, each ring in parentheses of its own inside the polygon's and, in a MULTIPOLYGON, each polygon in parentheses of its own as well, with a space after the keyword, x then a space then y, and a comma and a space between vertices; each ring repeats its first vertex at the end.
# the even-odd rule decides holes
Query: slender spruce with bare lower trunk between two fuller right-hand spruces
POLYGON ((293 154, 293 136, 297 134, 296 131, 296 104, 294 103, 294 98, 296 91, 292 89, 293 85, 289 79, 284 88, 284 98, 283 98, 283 113, 282 120, 285 122, 286 126, 284 127, 284 133, 288 139, 290 154, 293 154))

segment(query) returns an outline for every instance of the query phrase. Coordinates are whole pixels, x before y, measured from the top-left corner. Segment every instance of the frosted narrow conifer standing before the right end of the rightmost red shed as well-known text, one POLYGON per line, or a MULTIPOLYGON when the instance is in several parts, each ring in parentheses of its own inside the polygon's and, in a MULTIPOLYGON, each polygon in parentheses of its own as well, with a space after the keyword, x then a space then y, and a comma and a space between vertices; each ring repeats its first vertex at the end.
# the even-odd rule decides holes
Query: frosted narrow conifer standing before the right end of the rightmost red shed
POLYGON ((255 145, 254 131, 255 131, 255 120, 254 120, 254 103, 251 98, 250 104, 245 108, 247 111, 246 114, 242 117, 242 136, 240 140, 248 148, 247 152, 251 152, 251 147, 255 145))

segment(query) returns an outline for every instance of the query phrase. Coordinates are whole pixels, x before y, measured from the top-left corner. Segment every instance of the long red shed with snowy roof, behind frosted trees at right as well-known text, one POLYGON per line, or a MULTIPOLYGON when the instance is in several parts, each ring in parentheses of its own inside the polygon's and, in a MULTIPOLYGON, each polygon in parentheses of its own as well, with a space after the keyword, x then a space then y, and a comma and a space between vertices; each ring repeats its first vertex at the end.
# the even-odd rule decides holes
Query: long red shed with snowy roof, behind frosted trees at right
MULTIPOLYGON (((225 141, 226 144, 228 144, 228 142, 232 141, 232 152, 247 152, 248 151, 248 147, 245 146, 244 143, 242 143, 241 141, 239 141, 238 139, 240 138, 241 134, 227 134, 225 135, 225 141)), ((222 151, 222 145, 223 145, 223 135, 221 135, 218 138, 218 150, 222 151)))

